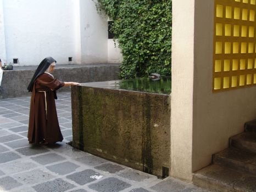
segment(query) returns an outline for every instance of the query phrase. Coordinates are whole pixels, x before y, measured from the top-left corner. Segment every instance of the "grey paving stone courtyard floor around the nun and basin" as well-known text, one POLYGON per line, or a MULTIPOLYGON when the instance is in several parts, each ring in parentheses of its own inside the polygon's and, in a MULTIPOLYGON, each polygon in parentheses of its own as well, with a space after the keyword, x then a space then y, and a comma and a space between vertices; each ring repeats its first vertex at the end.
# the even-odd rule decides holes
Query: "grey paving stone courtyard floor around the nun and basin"
POLYGON ((27 141, 30 97, 0 100, 0 191, 207 191, 180 180, 158 179, 73 149, 70 93, 56 100, 64 141, 51 146, 27 141))

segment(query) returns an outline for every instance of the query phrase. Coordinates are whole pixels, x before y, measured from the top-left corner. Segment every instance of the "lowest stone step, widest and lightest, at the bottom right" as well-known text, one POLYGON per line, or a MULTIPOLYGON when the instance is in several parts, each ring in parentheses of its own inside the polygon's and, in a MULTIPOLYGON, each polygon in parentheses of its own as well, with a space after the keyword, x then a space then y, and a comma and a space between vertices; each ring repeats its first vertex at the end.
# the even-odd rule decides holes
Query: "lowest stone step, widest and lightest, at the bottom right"
POLYGON ((213 191, 256 191, 256 176, 220 165, 210 165, 193 174, 193 184, 213 191))

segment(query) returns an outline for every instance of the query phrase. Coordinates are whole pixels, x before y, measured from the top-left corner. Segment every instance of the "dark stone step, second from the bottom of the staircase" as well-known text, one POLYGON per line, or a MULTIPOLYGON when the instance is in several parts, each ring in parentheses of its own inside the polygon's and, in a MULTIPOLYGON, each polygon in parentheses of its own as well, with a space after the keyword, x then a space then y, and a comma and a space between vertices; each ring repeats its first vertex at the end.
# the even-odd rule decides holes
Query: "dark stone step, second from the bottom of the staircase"
POLYGON ((229 148, 213 155, 213 163, 256 176, 256 154, 229 148))

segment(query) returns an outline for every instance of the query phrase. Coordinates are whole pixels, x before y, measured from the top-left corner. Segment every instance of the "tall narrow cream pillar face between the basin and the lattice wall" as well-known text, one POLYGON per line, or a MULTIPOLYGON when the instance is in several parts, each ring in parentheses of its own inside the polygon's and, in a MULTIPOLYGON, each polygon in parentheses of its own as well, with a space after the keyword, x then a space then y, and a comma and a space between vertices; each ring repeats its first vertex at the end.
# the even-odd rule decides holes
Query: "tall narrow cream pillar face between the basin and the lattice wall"
POLYGON ((192 180, 194 1, 172 0, 171 169, 192 180))

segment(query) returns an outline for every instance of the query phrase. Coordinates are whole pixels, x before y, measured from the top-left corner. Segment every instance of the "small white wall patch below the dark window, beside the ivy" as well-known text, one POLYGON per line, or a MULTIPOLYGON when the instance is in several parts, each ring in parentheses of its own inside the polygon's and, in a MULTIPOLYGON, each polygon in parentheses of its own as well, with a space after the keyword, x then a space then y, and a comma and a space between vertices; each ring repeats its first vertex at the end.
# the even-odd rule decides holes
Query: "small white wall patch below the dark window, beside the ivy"
POLYGON ((122 63, 123 54, 118 47, 118 42, 114 42, 113 39, 108 39, 108 63, 122 63))

